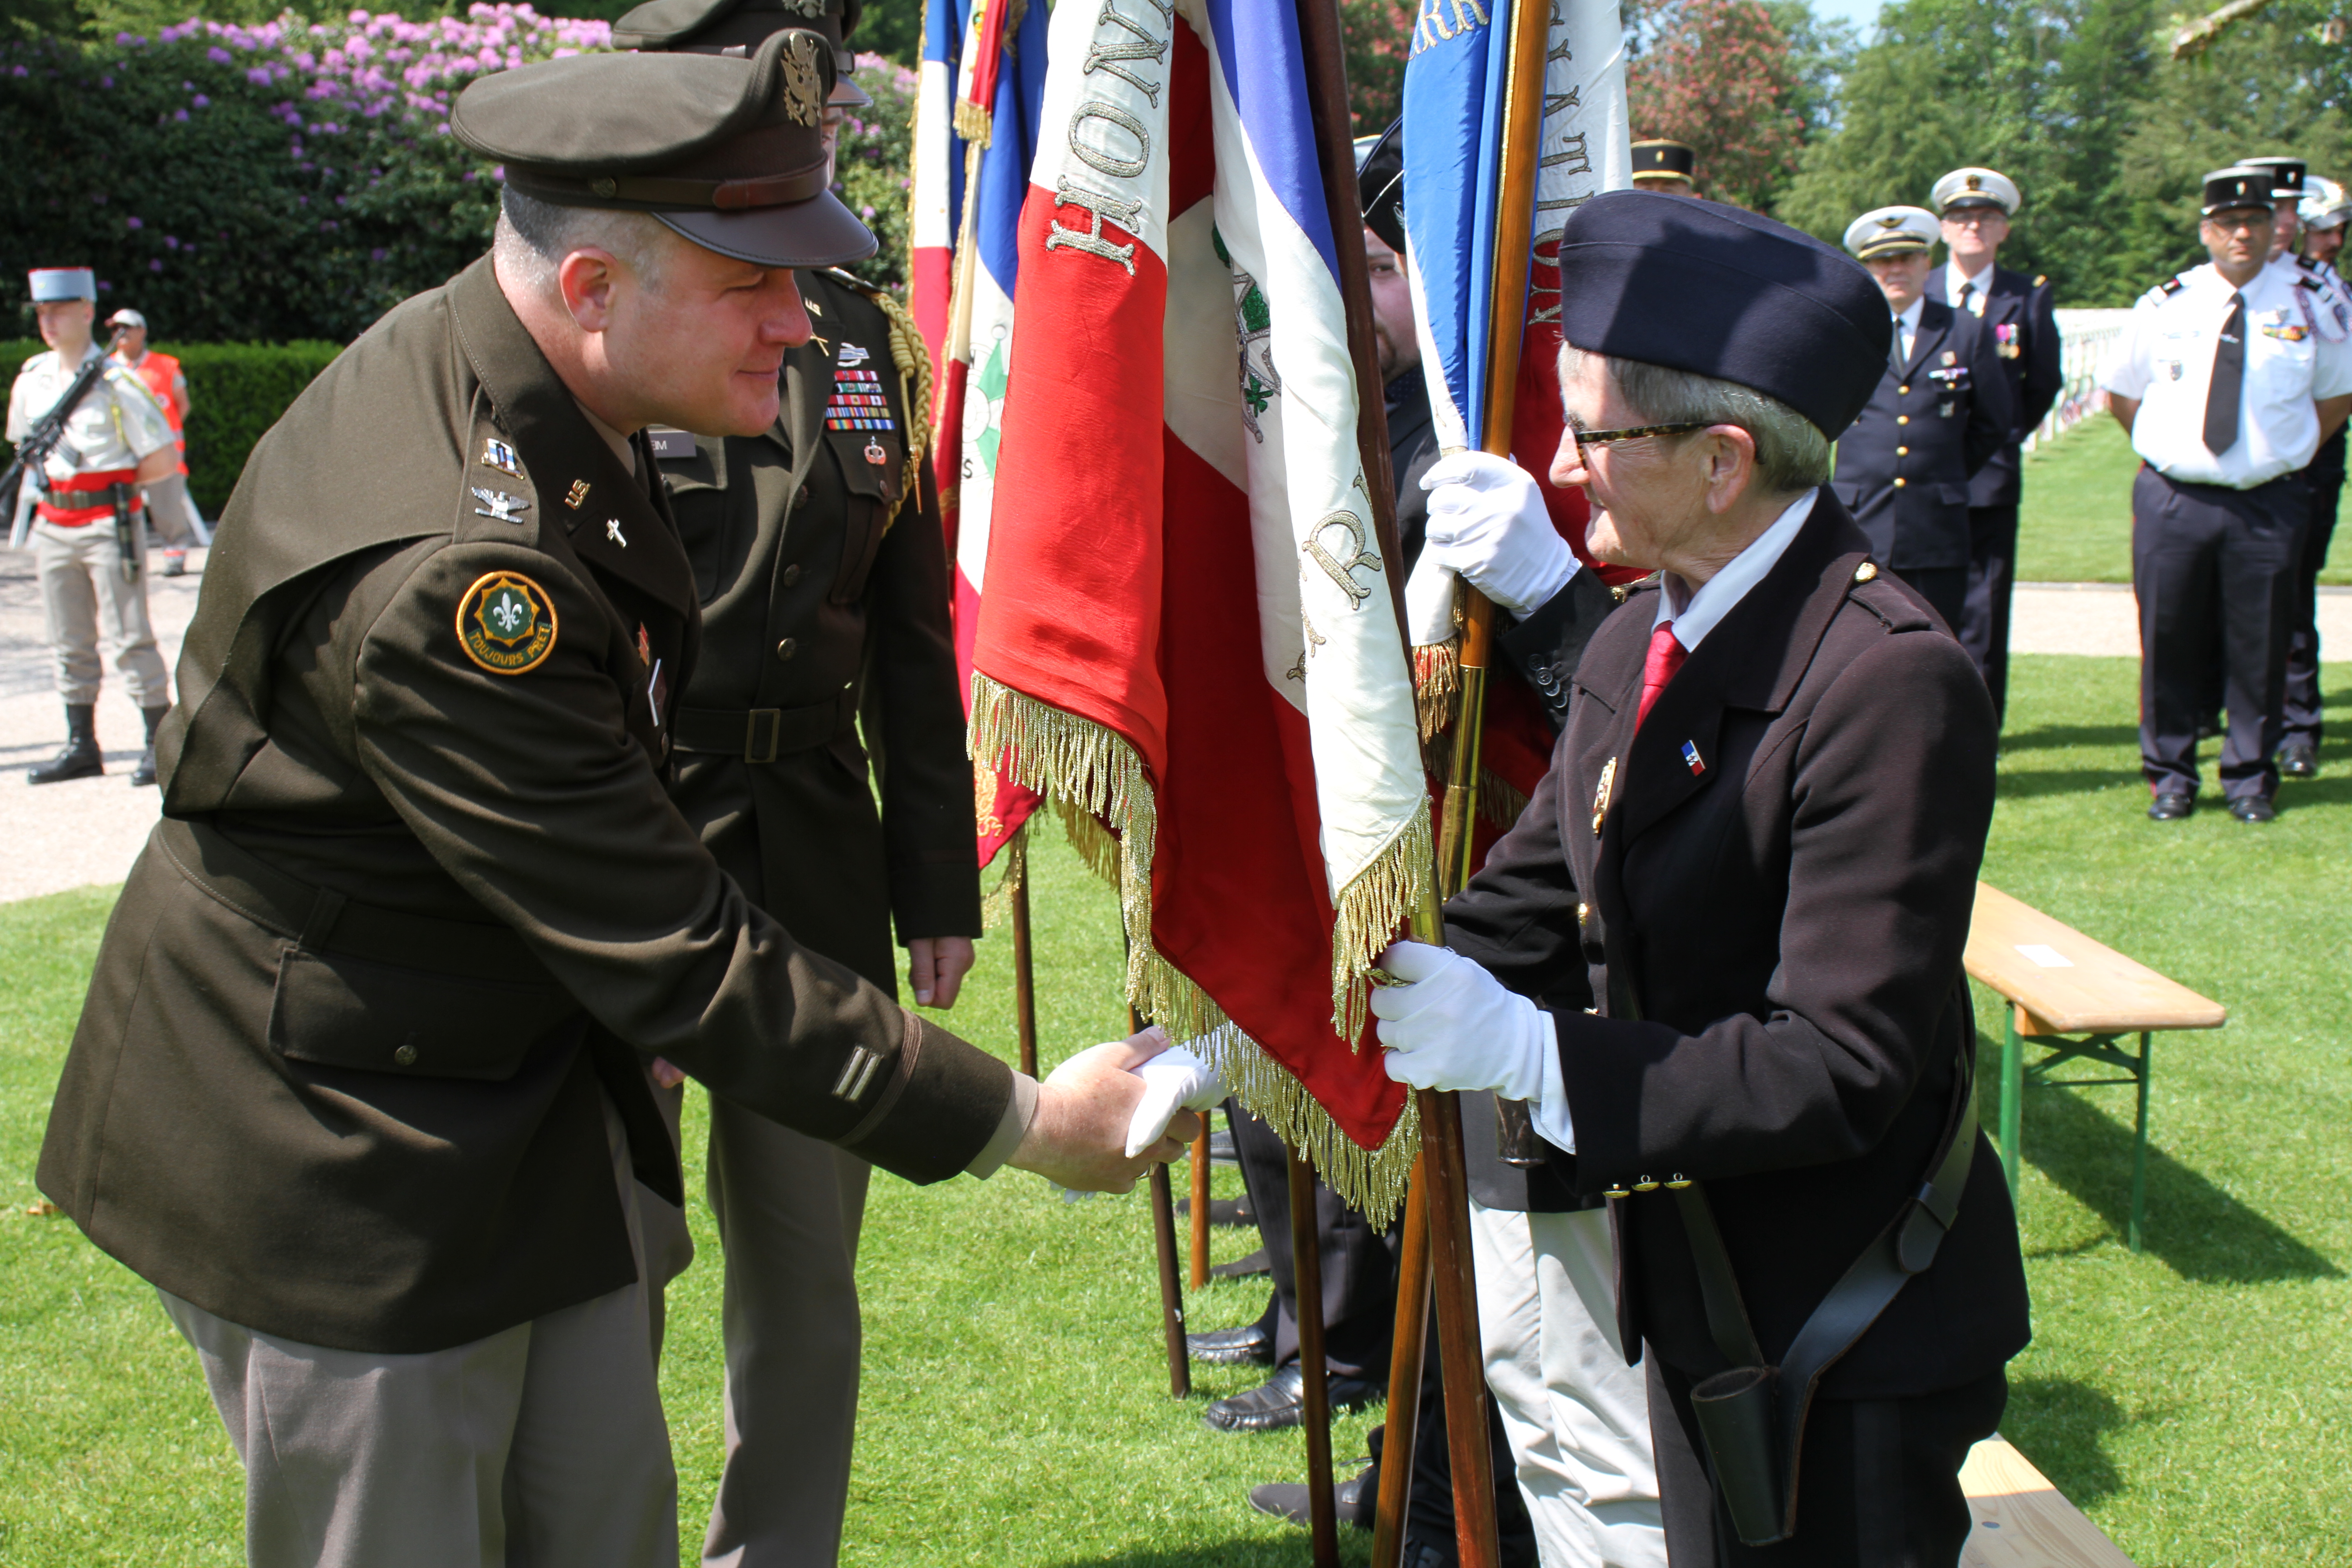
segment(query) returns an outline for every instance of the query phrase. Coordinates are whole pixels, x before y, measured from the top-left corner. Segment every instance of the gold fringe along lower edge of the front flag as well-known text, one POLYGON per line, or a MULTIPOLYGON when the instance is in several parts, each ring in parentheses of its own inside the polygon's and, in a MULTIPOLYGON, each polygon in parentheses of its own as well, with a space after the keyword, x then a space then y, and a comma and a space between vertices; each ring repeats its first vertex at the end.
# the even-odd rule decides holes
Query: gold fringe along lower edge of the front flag
MULTIPOLYGON (((1367 1150, 1341 1131, 1287 1067, 1258 1048, 1221 1006, 1152 945, 1150 865, 1160 809, 1143 759, 1115 731, 1014 691, 988 675, 971 675, 971 755, 995 762, 1007 778, 1056 802, 1070 842, 1087 865, 1120 893, 1127 929, 1127 999, 1143 1016, 1202 1056, 1235 1098, 1303 1150, 1336 1194, 1388 1225, 1404 1201, 1421 1114, 1411 1095, 1388 1140, 1367 1150)), ((1362 1020, 1362 966, 1388 943, 1397 922, 1425 898, 1432 858, 1428 813, 1414 820, 1359 872, 1336 900, 1331 938, 1334 987, 1341 976, 1355 1011, 1334 1004, 1336 1018, 1362 1020)), ((1357 1030, 1359 1032, 1359 1030, 1357 1030)), ((1345 1039, 1355 1039, 1350 1032, 1345 1039)))

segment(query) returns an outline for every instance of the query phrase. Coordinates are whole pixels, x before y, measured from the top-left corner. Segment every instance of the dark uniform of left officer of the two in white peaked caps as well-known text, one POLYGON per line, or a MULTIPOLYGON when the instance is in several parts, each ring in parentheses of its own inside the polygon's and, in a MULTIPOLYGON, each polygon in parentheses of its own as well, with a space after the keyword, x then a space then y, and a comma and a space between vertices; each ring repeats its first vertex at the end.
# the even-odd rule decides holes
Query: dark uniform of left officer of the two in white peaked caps
POLYGON ((1957 628, 1969 597, 1969 484, 2011 437, 2009 374, 1973 315, 1919 301, 1919 329, 1898 371, 1879 378, 1837 437, 1830 489, 1853 512, 1879 564, 1957 628))

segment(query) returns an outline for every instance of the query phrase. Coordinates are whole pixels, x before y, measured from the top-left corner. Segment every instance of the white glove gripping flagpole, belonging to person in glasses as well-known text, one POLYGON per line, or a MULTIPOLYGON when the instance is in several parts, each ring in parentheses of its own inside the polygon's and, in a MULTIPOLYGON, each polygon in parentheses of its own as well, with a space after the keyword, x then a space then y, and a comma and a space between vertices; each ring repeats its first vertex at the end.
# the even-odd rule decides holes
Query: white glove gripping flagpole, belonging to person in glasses
POLYGON ((1404 980, 1371 987, 1388 1077, 1414 1088, 1491 1088, 1526 1100, 1545 1143, 1576 1152, 1559 1039, 1543 1009, 1451 947, 1390 943, 1381 969, 1404 980))

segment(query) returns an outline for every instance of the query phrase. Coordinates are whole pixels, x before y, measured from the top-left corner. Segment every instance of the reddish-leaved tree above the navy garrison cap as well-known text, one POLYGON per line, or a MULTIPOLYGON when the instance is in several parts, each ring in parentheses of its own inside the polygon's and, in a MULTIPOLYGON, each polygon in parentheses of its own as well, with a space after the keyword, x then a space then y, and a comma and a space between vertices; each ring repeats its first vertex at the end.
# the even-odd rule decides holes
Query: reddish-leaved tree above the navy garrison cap
MULTIPOLYGON (((1788 12, 1811 21, 1795 0, 1788 12)), ((1766 209, 1797 174, 1820 108, 1764 0, 1628 0, 1625 108, 1635 139, 1698 153, 1698 195, 1766 209)))

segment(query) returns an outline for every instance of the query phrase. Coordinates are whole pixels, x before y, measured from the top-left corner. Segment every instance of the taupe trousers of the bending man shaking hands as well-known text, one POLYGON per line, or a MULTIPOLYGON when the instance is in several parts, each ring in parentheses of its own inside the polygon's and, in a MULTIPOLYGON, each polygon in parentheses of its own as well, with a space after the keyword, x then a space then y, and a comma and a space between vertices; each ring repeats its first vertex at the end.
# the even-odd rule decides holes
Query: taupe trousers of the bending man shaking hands
MULTIPOLYGON (((174 1295, 245 1462, 254 1568, 677 1568, 647 1220, 607 1105, 640 1284, 416 1356, 322 1349, 174 1295)), ((675 1213, 675 1211, 670 1211, 675 1213)))

